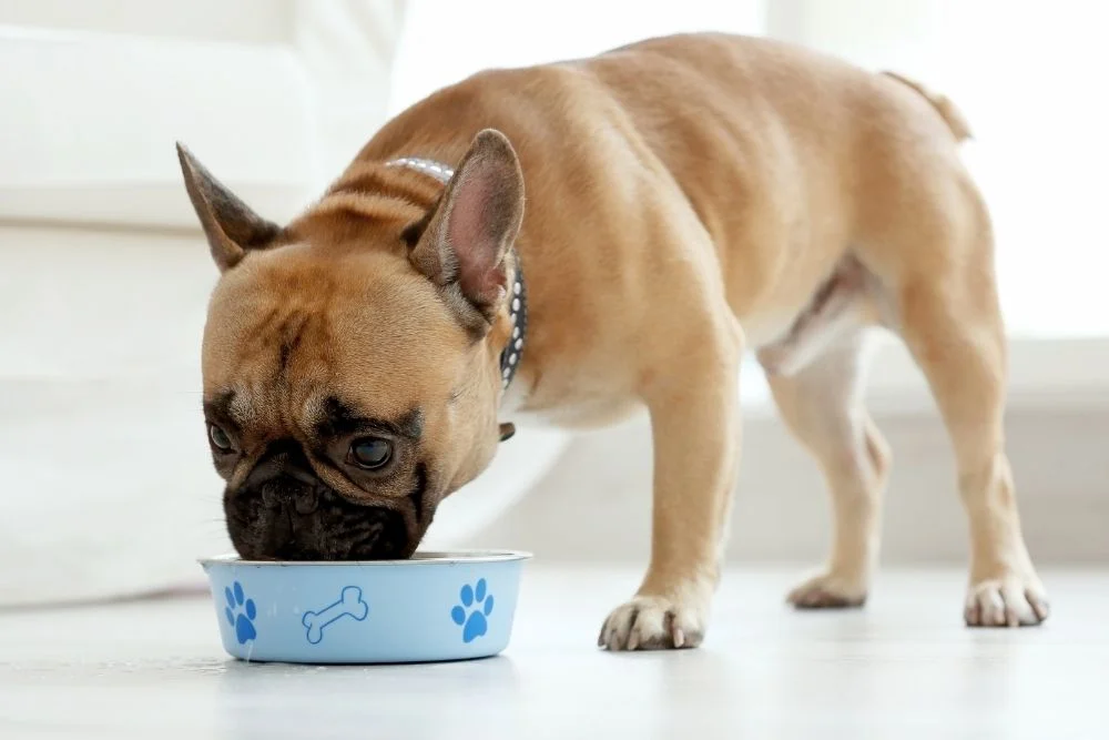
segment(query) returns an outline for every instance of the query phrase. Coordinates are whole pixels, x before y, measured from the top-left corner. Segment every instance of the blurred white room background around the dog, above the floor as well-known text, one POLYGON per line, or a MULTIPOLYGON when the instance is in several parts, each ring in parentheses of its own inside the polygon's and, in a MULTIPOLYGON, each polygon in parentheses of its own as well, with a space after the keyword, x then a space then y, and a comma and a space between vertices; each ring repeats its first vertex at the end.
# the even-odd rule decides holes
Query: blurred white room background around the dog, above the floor
MULTIPOLYGON (((439 87, 695 30, 893 69, 963 109, 996 222, 1029 547, 1040 567, 1103 565, 1107 21, 1085 0, 0 0, 0 604, 200 584, 193 558, 228 548, 200 413, 216 271, 174 141, 286 219, 439 87)), ((756 367, 742 385, 730 557, 815 565, 820 476, 756 367)), ((872 386, 895 456, 884 559, 963 561, 948 443, 892 341, 872 386)), ((574 438, 523 428, 428 544, 642 562, 649 442, 644 419, 574 438)))

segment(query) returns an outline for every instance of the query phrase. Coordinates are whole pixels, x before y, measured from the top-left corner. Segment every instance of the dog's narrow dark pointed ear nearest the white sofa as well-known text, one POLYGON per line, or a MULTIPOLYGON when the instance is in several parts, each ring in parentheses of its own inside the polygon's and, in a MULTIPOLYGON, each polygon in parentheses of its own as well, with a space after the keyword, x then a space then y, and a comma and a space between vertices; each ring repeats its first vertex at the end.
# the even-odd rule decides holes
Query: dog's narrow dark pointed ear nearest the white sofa
POLYGON ((196 216, 208 240, 212 259, 226 272, 246 256, 247 250, 268 246, 281 227, 266 221, 243 203, 181 143, 177 144, 181 173, 196 216))

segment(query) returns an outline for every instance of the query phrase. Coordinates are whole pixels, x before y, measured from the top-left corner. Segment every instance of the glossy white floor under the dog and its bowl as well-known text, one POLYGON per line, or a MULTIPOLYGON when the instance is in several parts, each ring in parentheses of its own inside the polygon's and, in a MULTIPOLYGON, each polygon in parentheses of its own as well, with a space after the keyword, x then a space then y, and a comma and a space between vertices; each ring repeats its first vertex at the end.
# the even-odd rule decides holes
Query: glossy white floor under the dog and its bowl
POLYGON ((1109 570, 1047 572, 1020 631, 962 627, 957 570, 841 614, 787 610, 794 576, 732 568, 701 649, 609 655, 637 574, 533 566, 502 656, 425 666, 236 662, 206 598, 0 612, 0 738, 1109 737, 1109 570))

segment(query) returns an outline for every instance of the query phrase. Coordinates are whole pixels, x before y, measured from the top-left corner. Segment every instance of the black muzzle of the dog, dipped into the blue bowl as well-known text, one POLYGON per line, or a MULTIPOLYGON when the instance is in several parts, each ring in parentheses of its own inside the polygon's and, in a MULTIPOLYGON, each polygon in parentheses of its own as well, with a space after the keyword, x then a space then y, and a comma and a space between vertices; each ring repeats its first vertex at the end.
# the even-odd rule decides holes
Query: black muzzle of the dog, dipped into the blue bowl
POLYGON ((400 513, 337 494, 294 440, 272 444, 243 485, 224 493, 223 507, 248 560, 386 560, 415 549, 400 513))

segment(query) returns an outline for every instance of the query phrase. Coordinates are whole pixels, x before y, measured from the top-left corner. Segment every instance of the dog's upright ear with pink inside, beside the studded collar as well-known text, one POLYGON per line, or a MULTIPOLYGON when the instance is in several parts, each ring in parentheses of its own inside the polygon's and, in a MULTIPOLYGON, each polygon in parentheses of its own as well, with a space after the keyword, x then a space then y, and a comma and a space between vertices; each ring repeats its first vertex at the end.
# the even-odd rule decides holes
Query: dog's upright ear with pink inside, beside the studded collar
POLYGON ((411 263, 444 288, 461 323, 484 333, 508 295, 505 256, 523 221, 523 173, 505 134, 478 133, 447 183, 411 263))

